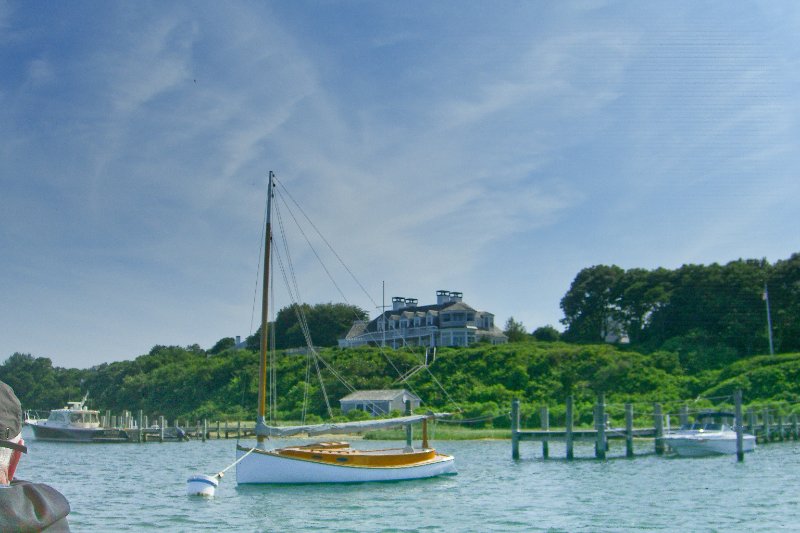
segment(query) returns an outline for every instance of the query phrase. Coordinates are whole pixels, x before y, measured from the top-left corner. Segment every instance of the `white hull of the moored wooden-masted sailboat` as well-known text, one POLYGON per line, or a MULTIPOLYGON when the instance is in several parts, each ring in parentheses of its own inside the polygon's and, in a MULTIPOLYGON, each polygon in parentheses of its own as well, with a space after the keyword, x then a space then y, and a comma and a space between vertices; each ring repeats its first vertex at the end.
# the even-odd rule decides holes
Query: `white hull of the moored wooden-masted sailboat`
POLYGON ((325 464, 271 451, 256 450, 247 457, 247 448, 237 448, 236 482, 255 483, 362 483, 401 481, 455 474, 455 459, 437 454, 432 461, 415 465, 367 467, 325 464))

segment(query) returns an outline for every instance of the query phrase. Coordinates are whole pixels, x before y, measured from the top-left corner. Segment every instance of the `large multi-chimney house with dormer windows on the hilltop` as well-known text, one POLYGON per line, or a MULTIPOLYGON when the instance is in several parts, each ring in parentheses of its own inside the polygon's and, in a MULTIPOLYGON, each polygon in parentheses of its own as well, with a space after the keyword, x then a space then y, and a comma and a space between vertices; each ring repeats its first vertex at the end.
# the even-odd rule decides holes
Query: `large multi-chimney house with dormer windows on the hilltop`
POLYGON ((416 298, 392 298, 392 310, 367 322, 359 320, 339 346, 469 346, 481 339, 508 342, 494 325, 494 315, 476 311, 460 292, 436 291, 436 303, 417 305, 416 298))

